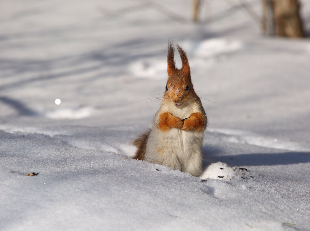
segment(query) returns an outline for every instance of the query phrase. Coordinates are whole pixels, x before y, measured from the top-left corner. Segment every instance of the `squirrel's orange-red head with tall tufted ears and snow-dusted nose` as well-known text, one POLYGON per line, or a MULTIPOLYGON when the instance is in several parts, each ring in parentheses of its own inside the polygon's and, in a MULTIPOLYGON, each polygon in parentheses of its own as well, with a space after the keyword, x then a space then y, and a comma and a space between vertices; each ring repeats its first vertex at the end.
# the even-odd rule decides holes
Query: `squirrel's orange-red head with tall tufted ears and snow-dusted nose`
POLYGON ((174 46, 173 43, 169 41, 167 54, 167 72, 169 77, 164 99, 170 101, 176 107, 179 107, 193 98, 194 89, 187 55, 179 45, 176 45, 176 47, 181 57, 182 68, 178 69, 175 67, 174 46))

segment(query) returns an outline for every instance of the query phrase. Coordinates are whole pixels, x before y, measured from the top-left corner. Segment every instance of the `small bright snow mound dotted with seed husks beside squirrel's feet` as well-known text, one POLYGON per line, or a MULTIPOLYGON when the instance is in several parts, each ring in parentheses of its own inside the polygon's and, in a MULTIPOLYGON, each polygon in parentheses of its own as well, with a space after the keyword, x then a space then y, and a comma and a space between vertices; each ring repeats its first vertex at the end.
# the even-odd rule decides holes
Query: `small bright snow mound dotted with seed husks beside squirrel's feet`
POLYGON ((200 178, 230 180, 235 175, 231 167, 223 162, 210 164, 201 174, 200 178))

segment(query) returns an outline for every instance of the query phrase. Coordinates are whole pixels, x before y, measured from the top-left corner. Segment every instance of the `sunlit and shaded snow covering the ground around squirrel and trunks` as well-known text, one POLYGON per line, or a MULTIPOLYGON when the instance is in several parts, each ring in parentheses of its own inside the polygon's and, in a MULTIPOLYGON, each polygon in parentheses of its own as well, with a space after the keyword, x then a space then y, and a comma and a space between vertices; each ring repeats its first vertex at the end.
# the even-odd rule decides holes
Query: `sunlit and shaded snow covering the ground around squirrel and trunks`
POLYGON ((2 2, 0 229, 310 230, 309 41, 263 37, 229 2, 201 24, 185 0, 158 1, 185 23, 140 1, 2 2), (131 158, 168 39, 208 115, 200 178, 131 158))

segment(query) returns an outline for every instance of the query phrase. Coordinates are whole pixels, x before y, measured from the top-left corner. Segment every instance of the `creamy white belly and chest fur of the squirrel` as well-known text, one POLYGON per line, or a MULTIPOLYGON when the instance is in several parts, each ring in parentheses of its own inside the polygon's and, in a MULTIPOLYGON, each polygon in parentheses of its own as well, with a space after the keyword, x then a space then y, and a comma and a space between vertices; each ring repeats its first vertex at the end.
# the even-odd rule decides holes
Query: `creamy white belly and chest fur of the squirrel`
MULTIPOLYGON (((187 107, 172 113, 183 119, 189 117, 193 112, 193 108, 187 107)), ((154 118, 144 160, 199 176, 201 174, 201 145, 204 132, 183 131, 180 128, 171 128, 166 132, 161 131, 157 128, 156 122, 159 113, 158 111, 154 118)))

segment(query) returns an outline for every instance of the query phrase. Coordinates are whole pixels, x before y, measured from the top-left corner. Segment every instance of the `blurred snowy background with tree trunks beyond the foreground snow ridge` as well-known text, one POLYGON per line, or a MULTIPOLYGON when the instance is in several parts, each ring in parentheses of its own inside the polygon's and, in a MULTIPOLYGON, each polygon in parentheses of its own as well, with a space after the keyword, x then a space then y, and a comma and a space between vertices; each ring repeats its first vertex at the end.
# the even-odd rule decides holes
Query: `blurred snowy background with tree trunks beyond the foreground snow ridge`
POLYGON ((188 53, 208 131, 310 149, 307 0, 0 4, 0 129, 114 127, 129 142, 159 108, 171 39, 188 53))

